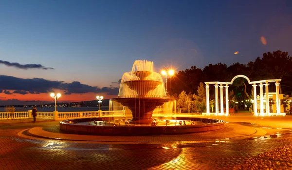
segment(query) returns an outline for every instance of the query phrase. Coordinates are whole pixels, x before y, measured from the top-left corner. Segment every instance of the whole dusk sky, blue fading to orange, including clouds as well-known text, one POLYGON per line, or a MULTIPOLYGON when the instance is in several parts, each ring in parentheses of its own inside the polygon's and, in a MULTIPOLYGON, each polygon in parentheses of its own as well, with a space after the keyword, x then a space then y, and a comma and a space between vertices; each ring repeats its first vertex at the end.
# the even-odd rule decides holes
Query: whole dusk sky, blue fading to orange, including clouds
POLYGON ((117 97, 138 59, 160 72, 291 54, 291 30, 291 0, 1 0, 0 105, 117 97))

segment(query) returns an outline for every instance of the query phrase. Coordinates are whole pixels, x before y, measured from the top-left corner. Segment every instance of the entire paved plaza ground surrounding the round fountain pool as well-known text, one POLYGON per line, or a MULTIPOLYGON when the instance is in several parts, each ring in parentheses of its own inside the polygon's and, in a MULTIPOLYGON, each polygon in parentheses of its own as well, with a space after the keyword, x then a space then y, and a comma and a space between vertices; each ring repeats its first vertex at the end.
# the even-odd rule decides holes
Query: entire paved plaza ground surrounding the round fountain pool
POLYGON ((0 170, 292 169, 292 157, 279 156, 291 155, 292 116, 209 117, 225 120, 225 128, 181 135, 88 136, 64 134, 57 121, 1 121, 0 170))

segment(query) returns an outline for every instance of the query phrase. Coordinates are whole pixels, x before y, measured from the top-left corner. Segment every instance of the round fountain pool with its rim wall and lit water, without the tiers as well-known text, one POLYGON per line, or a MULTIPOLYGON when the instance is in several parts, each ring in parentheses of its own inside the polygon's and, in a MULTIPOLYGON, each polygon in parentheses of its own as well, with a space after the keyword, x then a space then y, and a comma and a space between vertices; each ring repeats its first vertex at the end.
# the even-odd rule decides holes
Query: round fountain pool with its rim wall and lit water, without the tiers
POLYGON ((224 121, 196 117, 153 117, 155 124, 128 124, 109 117, 68 119, 60 121, 60 130, 88 135, 165 135, 214 131, 224 128, 224 121))

